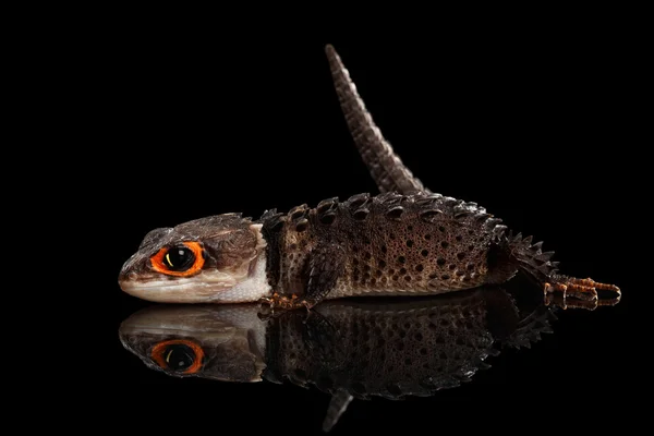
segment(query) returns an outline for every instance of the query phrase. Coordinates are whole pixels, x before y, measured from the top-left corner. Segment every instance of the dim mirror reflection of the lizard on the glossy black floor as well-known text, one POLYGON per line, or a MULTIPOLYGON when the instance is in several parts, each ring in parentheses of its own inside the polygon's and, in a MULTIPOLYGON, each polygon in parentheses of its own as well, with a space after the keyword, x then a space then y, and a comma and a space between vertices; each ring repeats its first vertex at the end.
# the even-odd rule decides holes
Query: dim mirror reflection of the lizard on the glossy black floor
MULTIPOLYGON (((487 395, 505 395, 511 382, 501 377, 511 377, 507 371, 521 364, 520 353, 529 354, 556 332, 561 314, 594 316, 618 303, 544 298, 537 288, 513 280, 432 298, 337 300, 311 313, 270 314, 259 304, 152 305, 128 317, 119 334, 145 367, 180 383, 209 380, 217 396, 226 383, 281 385, 276 387, 280 398, 293 413, 305 413, 306 403, 295 403, 289 386, 322 392, 329 401, 324 401, 322 423, 315 421, 311 429, 330 431, 341 416, 355 413, 348 412, 352 401, 435 397, 475 384, 480 374, 487 374, 481 383, 495 385, 487 395), (494 368, 502 353, 510 355, 494 368)), ((588 338, 578 335, 565 339, 583 347, 588 338)), ((581 368, 566 374, 584 378, 581 368)), ((301 389, 295 390, 300 398, 301 389)))

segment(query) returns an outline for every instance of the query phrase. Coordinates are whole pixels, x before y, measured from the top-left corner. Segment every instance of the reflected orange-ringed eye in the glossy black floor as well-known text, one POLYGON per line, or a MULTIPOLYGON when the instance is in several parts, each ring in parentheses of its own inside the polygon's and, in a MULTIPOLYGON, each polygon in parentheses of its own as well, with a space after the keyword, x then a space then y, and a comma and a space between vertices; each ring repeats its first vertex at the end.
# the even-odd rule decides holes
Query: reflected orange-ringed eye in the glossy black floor
POLYGON ((202 368, 204 351, 195 342, 175 339, 157 343, 152 356, 162 370, 195 374, 202 368))

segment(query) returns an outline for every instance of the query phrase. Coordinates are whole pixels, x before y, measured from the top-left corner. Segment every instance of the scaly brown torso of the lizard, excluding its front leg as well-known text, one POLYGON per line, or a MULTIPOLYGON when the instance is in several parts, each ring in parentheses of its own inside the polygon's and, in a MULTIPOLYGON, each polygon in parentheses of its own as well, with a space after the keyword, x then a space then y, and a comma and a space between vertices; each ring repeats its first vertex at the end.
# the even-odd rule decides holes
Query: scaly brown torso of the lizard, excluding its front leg
POLYGON ((434 294, 484 283, 494 227, 474 219, 485 215, 482 209, 456 217, 456 208, 444 202, 427 194, 361 194, 293 208, 284 218, 277 291, 303 294, 311 252, 325 243, 344 250, 344 274, 327 299, 434 294), (437 206, 444 211, 429 214, 437 206))

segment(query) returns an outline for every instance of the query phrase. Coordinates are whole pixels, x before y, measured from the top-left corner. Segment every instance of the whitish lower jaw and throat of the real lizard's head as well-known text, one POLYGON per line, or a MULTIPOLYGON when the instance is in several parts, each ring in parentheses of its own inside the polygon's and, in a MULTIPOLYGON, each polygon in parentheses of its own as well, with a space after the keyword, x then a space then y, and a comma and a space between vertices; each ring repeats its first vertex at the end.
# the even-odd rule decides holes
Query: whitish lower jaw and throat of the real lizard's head
POLYGON ((123 281, 130 295, 156 303, 249 303, 270 294, 266 259, 257 259, 250 276, 234 277, 220 271, 203 271, 189 278, 123 281))

